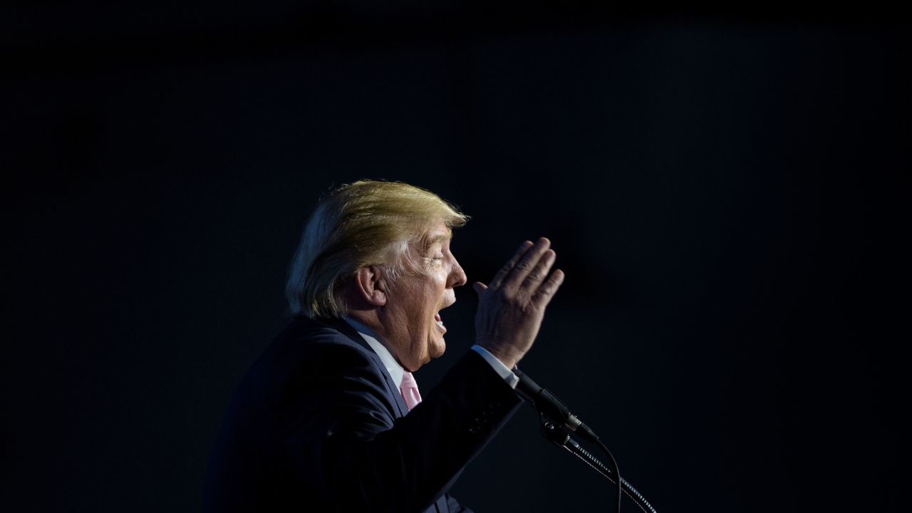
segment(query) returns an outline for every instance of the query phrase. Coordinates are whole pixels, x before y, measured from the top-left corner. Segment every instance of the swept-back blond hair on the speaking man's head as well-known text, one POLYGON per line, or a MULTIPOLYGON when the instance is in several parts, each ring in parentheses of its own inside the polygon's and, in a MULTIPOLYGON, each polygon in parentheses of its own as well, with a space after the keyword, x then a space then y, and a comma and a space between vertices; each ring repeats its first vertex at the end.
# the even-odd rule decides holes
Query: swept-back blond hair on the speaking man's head
POLYGON ((365 266, 386 266, 393 282, 415 269, 409 245, 437 219, 453 228, 469 217, 408 183, 360 180, 333 190, 307 220, 288 269, 285 297, 292 315, 344 317, 347 280, 365 266))

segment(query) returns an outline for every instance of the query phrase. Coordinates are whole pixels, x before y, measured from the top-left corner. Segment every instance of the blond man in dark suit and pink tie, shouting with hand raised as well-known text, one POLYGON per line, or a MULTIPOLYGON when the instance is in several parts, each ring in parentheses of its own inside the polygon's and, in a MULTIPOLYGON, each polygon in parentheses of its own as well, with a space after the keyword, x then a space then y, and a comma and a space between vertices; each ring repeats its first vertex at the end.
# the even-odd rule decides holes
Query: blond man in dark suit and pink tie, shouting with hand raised
POLYGON ((411 372, 445 350, 466 219, 405 183, 351 183, 317 206, 289 273, 295 319, 235 394, 207 510, 466 510, 447 490, 519 404, 511 369, 564 279, 542 238, 476 282, 477 343, 422 401, 411 372))

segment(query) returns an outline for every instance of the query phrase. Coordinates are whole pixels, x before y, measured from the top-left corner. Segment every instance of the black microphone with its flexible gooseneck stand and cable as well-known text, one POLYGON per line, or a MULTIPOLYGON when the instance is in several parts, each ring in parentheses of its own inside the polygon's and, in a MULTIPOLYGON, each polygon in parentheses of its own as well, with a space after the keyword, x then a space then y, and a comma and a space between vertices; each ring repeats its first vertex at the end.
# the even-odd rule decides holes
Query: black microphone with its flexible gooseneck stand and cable
POLYGON ((544 436, 545 440, 558 447, 563 447, 570 454, 583 460, 586 465, 592 467, 599 475, 605 477, 609 483, 617 486, 618 512, 620 511, 620 494, 623 492, 623 494, 629 497, 643 513, 658 513, 656 509, 649 504, 646 497, 643 497, 637 491, 637 488, 628 483, 627 479, 620 477, 620 472, 617 471, 617 463, 615 462, 614 456, 611 455, 611 452, 608 451, 605 444, 602 444, 602 442, 598 440, 598 436, 596 436, 586 424, 581 423, 575 415, 570 414, 566 405, 557 399, 553 393, 538 386, 531 378, 523 374, 523 372, 520 372, 519 369, 513 368, 513 372, 520 378, 520 383, 516 388, 517 393, 520 394, 526 403, 529 403, 538 411, 542 436, 544 436), (612 471, 599 461, 596 456, 586 451, 585 448, 579 445, 570 436, 570 433, 580 434, 589 442, 598 445, 611 460, 615 470, 612 471))

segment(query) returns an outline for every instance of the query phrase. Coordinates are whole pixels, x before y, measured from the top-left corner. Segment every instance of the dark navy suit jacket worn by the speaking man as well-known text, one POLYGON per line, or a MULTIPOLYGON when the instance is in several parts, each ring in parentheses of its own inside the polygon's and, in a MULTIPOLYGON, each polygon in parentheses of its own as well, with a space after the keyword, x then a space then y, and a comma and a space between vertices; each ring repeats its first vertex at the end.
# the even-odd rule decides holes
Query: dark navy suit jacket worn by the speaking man
POLYGON ((468 351, 409 413, 357 331, 296 318, 235 393, 204 509, 460 511, 447 490, 518 404, 468 351))

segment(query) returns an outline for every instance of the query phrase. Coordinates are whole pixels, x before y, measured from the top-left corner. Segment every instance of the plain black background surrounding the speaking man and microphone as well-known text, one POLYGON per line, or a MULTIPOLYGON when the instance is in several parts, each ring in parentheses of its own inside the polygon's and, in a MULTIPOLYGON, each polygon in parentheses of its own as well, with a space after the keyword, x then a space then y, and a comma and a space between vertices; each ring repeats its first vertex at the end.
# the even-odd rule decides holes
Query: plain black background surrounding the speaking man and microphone
MULTIPOLYGON (((659 511, 898 510, 908 25, 866 5, 4 5, 4 510, 193 511, 330 186, 566 273, 523 368, 659 511)), ((443 312, 472 344, 470 287, 443 312)), ((608 508, 523 409, 453 494, 608 508)), ((627 503, 627 510, 633 508, 627 503)))

